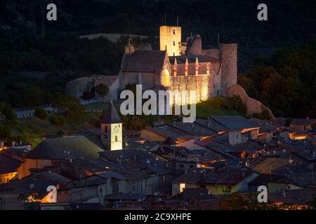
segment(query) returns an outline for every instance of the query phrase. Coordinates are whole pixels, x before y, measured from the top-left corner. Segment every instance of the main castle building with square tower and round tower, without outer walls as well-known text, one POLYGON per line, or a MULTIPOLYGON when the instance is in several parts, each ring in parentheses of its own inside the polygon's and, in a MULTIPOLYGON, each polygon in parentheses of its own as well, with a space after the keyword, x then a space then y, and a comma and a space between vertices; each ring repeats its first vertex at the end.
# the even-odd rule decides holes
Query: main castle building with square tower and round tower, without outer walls
MULTIPOLYGON (((119 71, 119 88, 126 84, 141 84, 143 90, 196 90, 196 96, 181 99, 192 104, 210 97, 225 96, 226 90, 237 84, 237 44, 220 44, 215 49, 203 49, 199 35, 182 42, 181 27, 162 26, 160 50, 131 43, 126 46, 119 71)), ((171 95, 171 104, 174 99, 171 95)))

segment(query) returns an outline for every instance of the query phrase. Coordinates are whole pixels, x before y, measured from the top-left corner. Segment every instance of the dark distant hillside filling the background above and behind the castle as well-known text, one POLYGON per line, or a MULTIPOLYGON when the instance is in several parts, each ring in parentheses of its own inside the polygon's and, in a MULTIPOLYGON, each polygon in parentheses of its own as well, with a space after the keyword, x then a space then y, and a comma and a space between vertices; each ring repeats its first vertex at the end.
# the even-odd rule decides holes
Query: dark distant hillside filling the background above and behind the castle
MULTIPOLYGON (((46 32, 74 32, 75 34, 141 34, 157 36, 159 25, 183 27, 183 39, 201 34, 204 47, 220 42, 239 44, 239 71, 251 66, 254 57, 271 55, 276 49, 301 45, 316 34, 315 1, 267 0, 268 21, 256 17, 258 3, 249 0, 53 0, 43 5, 58 6, 58 21, 46 22, 46 32)), ((39 1, 4 0, 1 27, 15 31, 41 34, 39 1), (10 29, 12 28, 12 29, 10 29)), ((19 32, 20 33, 20 32, 19 32)))

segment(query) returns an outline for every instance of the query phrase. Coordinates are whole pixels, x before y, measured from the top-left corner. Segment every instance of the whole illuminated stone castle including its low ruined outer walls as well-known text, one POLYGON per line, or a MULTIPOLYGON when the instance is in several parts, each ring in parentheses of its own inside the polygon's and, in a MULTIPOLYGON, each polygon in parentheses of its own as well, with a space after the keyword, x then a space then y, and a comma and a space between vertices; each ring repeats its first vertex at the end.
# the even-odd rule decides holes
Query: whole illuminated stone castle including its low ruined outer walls
MULTIPOLYGON (((198 103, 211 97, 235 95, 242 99, 247 115, 268 111, 267 106, 249 97, 237 85, 237 44, 218 44, 218 48, 203 49, 199 35, 182 41, 181 27, 162 26, 160 49, 152 50, 150 43, 140 43, 134 49, 131 41, 125 47, 117 76, 87 76, 67 83, 66 92, 80 97, 84 91, 94 93, 96 85, 109 87, 106 100, 117 100, 127 84, 141 84, 143 90, 170 90, 170 104, 198 103), (94 80, 95 85, 91 86, 94 80), (187 90, 175 101, 174 92, 187 90), (190 95, 195 90, 195 95, 190 95)), ((100 96, 96 94, 96 99, 100 96)))

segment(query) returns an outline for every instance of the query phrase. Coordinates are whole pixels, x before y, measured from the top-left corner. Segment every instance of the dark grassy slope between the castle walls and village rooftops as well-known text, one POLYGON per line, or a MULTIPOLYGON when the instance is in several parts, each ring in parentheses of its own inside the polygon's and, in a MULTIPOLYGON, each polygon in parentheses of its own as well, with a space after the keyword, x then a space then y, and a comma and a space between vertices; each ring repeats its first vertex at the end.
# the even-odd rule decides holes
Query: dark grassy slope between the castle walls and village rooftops
MULTIPOLYGON (((206 102, 197 104, 197 118, 206 119, 209 116, 228 116, 228 115, 242 115, 234 109, 227 109, 223 106, 224 102, 227 104, 227 99, 223 97, 216 97, 209 99, 206 102)), ((86 109, 106 109, 108 102, 98 102, 86 105, 86 109)), ((227 106, 227 105, 226 105, 227 106)), ((119 103, 115 103, 117 111, 119 111, 119 103)), ((103 112, 104 113, 104 112, 103 112)), ((84 114, 84 118, 76 122, 67 122, 64 125, 53 125, 49 119, 41 120, 39 118, 22 118, 19 120, 21 128, 22 139, 25 142, 32 144, 33 148, 37 146, 42 139, 42 136, 48 134, 76 133, 85 132, 89 128, 100 127, 100 118, 103 116, 100 112, 88 112, 84 114)), ((180 116, 121 116, 125 128, 141 130, 143 127, 151 126, 158 120, 164 123, 171 123, 173 120, 181 121, 180 116)))

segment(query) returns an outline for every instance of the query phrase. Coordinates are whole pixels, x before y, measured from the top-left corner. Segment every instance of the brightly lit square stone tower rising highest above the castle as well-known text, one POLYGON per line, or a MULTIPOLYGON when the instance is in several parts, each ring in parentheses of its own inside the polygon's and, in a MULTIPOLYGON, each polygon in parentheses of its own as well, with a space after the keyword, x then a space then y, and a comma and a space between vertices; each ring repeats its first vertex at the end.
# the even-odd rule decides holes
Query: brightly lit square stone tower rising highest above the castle
POLYGON ((181 27, 160 27, 160 50, 166 50, 169 56, 181 55, 181 27))

